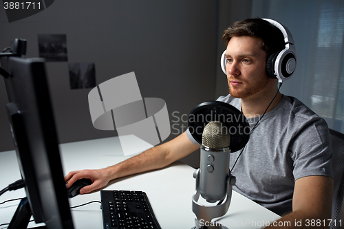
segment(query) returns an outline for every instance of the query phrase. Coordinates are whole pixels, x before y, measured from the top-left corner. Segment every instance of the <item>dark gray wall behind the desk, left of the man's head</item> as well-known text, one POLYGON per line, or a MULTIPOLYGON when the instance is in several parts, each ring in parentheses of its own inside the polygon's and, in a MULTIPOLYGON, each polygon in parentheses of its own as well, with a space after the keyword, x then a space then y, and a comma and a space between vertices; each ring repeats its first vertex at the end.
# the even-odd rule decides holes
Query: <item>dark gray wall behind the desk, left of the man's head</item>
MULTIPOLYGON (((220 1, 221 3, 222 1, 220 1)), ((0 8, 0 48, 14 38, 28 40, 27 56, 39 56, 37 34, 66 34, 68 63, 93 62, 97 85, 135 72, 142 97, 166 101, 171 122, 167 140, 184 131, 178 121, 195 105, 215 99, 218 1, 54 1, 27 19, 8 23, 0 8), (173 115, 174 114, 174 115, 173 115)), ((61 143, 105 138, 113 131, 92 126, 90 89, 69 87, 67 62, 47 63, 58 137, 61 143)), ((226 80, 224 81, 226 83, 226 80)), ((0 151, 13 149, 0 80, 0 151)), ((197 165, 197 156, 185 159, 197 165)))

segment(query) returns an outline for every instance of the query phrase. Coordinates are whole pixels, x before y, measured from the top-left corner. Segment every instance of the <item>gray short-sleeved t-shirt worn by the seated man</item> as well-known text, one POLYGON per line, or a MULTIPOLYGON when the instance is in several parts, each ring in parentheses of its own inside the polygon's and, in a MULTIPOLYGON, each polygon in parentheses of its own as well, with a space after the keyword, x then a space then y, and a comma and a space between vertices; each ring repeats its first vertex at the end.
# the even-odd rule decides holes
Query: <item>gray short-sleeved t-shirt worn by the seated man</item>
MULTIPOLYGON (((241 110, 241 99, 228 95, 218 101, 241 110)), ((261 117, 248 118, 254 127, 261 117)), ((186 131, 189 139, 197 143, 186 131)), ((240 151, 230 154, 230 169, 240 151)), ((284 215, 292 211, 295 180, 310 175, 333 177, 332 146, 327 123, 297 98, 283 96, 265 114, 241 153, 232 174, 233 190, 284 215)))

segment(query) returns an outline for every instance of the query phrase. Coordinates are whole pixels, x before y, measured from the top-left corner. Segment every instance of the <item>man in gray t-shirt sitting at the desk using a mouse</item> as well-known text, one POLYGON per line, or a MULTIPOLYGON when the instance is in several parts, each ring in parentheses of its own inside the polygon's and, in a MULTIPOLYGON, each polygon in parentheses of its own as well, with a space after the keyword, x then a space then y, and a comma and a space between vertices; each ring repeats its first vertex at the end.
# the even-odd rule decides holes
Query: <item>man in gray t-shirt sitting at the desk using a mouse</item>
MULTIPOLYGON (((333 189, 327 124, 296 98, 279 93, 277 79, 266 74, 268 56, 283 50, 283 34, 268 21, 247 19, 234 23, 223 39, 230 95, 218 100, 241 109, 250 127, 259 122, 241 155, 230 155, 230 168, 237 160, 234 190, 283 215, 279 221, 291 226, 300 220, 303 226, 312 219, 327 222, 333 189)), ((67 188, 89 178, 93 184, 80 190, 89 193, 111 179, 162 168, 198 149, 195 143, 186 131, 114 166, 71 172, 65 177, 67 188)))

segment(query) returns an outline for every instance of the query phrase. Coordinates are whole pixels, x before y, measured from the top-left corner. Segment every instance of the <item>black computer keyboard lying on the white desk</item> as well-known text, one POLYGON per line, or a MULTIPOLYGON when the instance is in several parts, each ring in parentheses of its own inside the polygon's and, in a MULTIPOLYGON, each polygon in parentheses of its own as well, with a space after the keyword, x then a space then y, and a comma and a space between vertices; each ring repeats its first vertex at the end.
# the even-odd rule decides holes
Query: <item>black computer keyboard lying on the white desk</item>
POLYGON ((104 229, 161 229, 146 193, 101 190, 104 229))

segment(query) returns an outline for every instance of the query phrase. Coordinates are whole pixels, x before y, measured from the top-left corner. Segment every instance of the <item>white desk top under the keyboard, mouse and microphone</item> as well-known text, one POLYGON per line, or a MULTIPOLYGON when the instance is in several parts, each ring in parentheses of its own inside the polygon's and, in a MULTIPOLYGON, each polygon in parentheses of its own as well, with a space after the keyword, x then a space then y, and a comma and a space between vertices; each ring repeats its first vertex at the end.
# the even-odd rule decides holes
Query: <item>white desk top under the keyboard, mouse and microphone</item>
MULTIPOLYGON (((84 168, 103 168, 128 158, 122 154, 118 138, 61 144, 60 149, 65 174, 84 168)), ((175 162, 159 171, 116 179, 104 189, 143 190, 149 197, 162 229, 192 228, 195 218, 191 200, 195 193, 193 171, 191 166, 175 162)), ((0 174, 0 189, 21 178, 14 151, 0 153, 0 174)), ((17 197, 25 197, 25 191, 21 189, 7 192, 1 195, 0 202, 17 197)), ((69 205, 76 206, 93 200, 100 200, 99 191, 69 199, 69 205)), ((14 201, 0 206, 0 224, 10 222, 18 203, 19 201, 14 201)), ((72 217, 76 229, 103 228, 98 203, 72 209, 72 217)), ((278 218, 274 212, 233 192, 229 210, 219 222, 228 228, 261 228, 266 225, 262 223, 278 218)), ((34 223, 29 224, 32 225, 34 223)), ((6 227, 0 229, 2 228, 6 227)))

